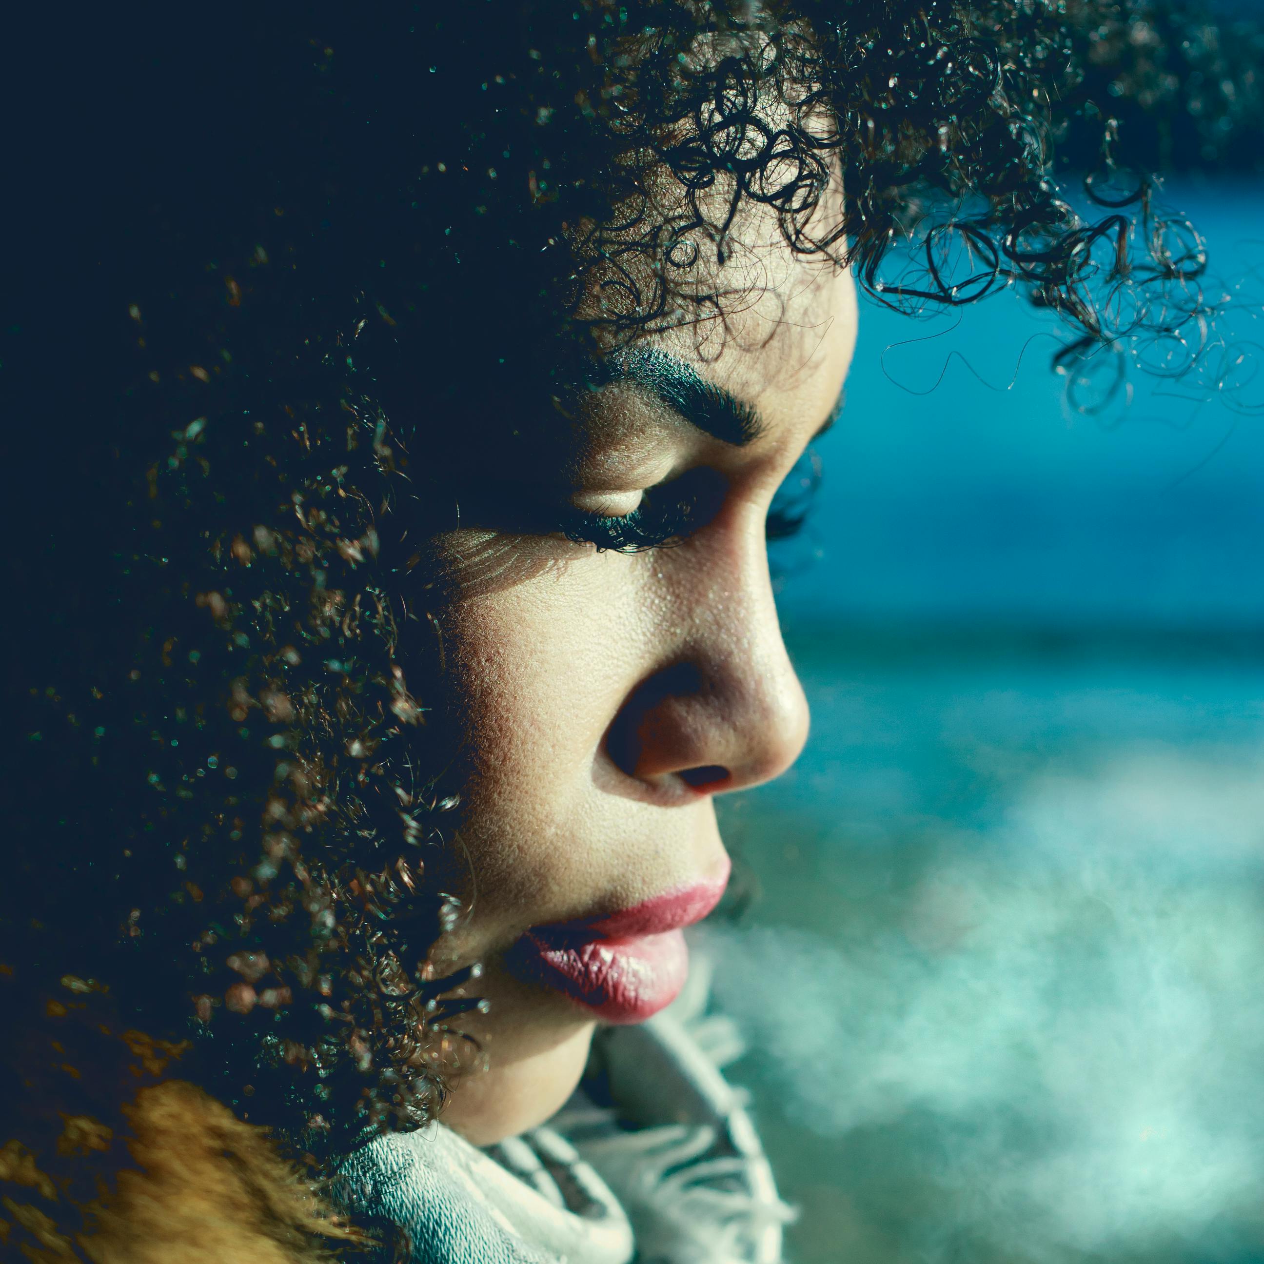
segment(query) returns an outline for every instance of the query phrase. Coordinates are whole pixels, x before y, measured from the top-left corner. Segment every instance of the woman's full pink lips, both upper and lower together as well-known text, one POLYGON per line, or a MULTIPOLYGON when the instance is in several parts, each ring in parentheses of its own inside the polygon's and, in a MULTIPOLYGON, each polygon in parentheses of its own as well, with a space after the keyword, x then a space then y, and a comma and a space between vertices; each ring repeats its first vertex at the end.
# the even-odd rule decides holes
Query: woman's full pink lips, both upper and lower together
POLYGON ((728 885, 728 863, 712 881, 666 891, 631 909, 528 930, 517 954, 537 982, 564 992, 604 1023, 642 1023, 685 986, 689 948, 681 933, 702 921, 728 885))

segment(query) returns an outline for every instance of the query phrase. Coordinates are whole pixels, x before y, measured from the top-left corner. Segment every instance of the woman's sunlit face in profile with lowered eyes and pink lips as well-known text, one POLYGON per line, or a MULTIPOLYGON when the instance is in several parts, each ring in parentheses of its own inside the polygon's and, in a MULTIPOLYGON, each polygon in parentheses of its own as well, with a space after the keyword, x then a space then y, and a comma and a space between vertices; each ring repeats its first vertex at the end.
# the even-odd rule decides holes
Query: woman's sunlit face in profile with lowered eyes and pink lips
MULTIPOLYGON (((808 734, 765 520, 834 411, 856 300, 848 273, 781 245, 748 262, 757 289, 723 326, 655 335, 603 378, 568 459, 578 509, 622 516, 669 480, 708 489, 702 525, 631 554, 557 540, 516 579, 458 583, 445 619, 469 913, 431 959, 483 964, 468 990, 487 1012, 454 1023, 482 1052, 447 1050, 444 1116, 478 1144, 557 1110, 598 1021, 672 1000, 679 928, 728 877, 714 796, 777 776, 808 734)), ((447 542, 458 575, 464 546, 447 542)))

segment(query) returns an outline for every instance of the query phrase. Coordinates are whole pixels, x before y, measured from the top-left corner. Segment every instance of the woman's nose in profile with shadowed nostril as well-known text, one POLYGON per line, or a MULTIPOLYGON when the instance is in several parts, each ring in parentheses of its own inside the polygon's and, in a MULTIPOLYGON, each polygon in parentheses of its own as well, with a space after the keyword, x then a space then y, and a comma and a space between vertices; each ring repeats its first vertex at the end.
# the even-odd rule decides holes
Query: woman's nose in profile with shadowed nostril
POLYGON ((715 552, 679 560, 650 629, 660 665, 619 708, 607 752, 651 786, 723 793, 770 781, 799 757, 809 717, 781 638, 762 531, 731 565, 717 565, 715 552))

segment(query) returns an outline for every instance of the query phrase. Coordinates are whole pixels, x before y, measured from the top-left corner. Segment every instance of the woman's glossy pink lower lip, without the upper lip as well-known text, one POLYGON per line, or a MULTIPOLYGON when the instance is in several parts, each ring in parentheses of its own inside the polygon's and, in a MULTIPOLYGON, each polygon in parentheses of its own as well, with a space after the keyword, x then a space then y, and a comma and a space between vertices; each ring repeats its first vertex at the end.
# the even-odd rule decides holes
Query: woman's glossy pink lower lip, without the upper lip
POLYGON ((565 944, 528 932, 522 948, 542 983, 603 1023, 643 1023, 676 999, 689 975, 689 948, 680 930, 565 944))

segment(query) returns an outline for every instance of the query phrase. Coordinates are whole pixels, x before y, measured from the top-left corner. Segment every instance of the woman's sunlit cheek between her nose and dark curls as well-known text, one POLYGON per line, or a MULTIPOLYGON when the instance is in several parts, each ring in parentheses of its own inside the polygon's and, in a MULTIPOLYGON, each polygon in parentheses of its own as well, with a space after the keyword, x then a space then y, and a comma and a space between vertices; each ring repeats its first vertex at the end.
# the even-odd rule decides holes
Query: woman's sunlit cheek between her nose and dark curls
POLYGON ((643 562, 589 555, 446 621, 469 769, 460 849, 483 923, 551 902, 592 863, 593 761, 647 636, 643 562))

